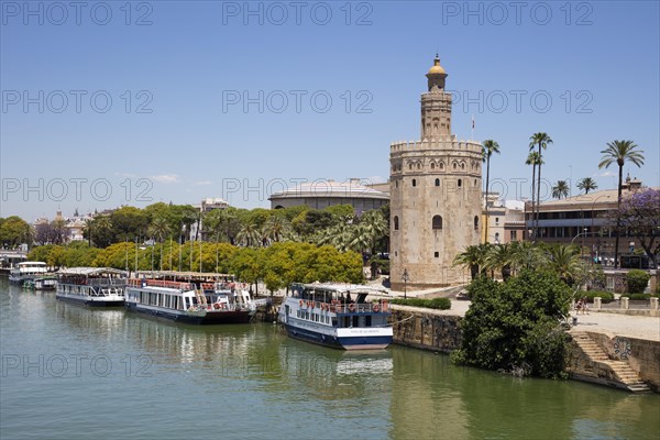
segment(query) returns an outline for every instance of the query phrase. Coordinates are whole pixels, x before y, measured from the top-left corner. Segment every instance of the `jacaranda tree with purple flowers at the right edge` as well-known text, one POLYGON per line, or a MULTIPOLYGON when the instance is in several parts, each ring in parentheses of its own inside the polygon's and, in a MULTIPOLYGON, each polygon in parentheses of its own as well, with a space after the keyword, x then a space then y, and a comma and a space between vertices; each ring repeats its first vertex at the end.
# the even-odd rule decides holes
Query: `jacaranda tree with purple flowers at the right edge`
POLYGON ((613 216, 619 224, 619 233, 627 232, 639 240, 639 244, 657 267, 656 240, 660 237, 660 189, 649 188, 624 198, 613 216))

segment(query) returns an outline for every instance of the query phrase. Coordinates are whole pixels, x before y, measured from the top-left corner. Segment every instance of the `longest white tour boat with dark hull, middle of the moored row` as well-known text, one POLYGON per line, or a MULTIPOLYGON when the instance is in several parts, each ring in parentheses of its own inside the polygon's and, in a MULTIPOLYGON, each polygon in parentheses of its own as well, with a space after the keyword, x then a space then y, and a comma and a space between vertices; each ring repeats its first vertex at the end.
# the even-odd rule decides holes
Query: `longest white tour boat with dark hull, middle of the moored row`
POLYGON ((245 323, 256 312, 250 293, 232 282, 131 279, 125 306, 132 311, 194 324, 245 323))

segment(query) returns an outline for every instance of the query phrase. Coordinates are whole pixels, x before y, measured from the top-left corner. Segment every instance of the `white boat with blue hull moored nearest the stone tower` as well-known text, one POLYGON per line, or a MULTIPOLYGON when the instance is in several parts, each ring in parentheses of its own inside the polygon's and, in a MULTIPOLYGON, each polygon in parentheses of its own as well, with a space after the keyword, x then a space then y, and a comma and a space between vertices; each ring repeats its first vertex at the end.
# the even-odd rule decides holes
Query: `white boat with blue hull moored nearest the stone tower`
POLYGON ((302 341, 342 350, 384 349, 393 336, 384 295, 354 284, 294 284, 279 308, 279 322, 289 337, 302 341))

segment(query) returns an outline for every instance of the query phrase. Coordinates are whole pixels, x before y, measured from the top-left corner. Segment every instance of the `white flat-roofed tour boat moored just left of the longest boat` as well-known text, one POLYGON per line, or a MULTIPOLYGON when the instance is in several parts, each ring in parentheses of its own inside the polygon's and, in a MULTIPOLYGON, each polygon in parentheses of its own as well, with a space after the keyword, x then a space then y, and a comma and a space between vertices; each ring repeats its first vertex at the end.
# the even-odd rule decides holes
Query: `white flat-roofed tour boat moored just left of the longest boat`
POLYGON ((111 267, 63 268, 57 278, 57 299, 92 307, 121 307, 128 273, 111 267))

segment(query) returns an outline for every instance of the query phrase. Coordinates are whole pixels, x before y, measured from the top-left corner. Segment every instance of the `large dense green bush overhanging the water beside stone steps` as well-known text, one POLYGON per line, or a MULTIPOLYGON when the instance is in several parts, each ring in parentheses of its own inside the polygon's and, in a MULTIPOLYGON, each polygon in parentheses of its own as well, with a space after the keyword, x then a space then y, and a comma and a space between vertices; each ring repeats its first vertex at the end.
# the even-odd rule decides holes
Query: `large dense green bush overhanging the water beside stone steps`
POLYGON ((472 305, 461 323, 463 339, 453 362, 564 377, 568 341, 560 320, 568 314, 571 289, 557 274, 526 270, 505 283, 479 277, 469 292, 472 305))

